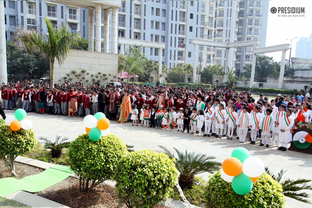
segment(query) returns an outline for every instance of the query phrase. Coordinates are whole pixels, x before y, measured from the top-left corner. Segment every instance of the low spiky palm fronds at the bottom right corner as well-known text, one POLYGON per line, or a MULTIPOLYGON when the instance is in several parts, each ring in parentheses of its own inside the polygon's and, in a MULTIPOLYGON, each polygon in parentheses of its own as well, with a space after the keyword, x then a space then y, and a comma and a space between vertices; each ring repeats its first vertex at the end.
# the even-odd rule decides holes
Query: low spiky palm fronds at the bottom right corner
POLYGON ((302 190, 312 190, 312 186, 307 184, 312 180, 302 178, 299 178, 297 180, 290 180, 289 178, 286 178, 285 181, 281 181, 282 176, 286 171, 282 169, 276 176, 273 174, 273 172, 269 170, 268 167, 266 167, 265 170, 267 174, 271 175, 275 181, 277 181, 280 185, 282 185, 284 196, 288 196, 298 201, 312 204, 310 201, 302 198, 302 197, 307 198, 309 197, 309 195, 306 192, 301 192, 302 190), (298 193, 298 191, 300 192, 298 193))

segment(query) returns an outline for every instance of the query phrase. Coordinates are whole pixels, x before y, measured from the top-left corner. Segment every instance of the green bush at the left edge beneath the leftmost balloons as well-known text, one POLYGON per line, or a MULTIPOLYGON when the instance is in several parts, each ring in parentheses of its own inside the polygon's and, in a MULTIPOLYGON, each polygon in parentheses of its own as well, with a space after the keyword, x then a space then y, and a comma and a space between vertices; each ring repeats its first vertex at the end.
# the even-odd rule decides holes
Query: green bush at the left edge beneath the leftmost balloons
POLYGON ((14 160, 17 156, 35 148, 37 144, 35 133, 32 129, 12 131, 5 123, 0 124, 0 158, 13 176, 15 173, 14 160))

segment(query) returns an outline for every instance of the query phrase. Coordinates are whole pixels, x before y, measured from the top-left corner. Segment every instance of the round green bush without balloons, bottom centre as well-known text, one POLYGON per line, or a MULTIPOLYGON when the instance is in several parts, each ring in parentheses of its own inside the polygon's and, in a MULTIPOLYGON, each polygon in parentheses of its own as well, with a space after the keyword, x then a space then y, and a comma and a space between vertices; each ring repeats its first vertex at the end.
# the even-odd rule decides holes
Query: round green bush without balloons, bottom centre
POLYGON ((118 161, 114 180, 119 200, 129 208, 149 208, 168 198, 177 184, 178 172, 164 153, 139 150, 118 161))

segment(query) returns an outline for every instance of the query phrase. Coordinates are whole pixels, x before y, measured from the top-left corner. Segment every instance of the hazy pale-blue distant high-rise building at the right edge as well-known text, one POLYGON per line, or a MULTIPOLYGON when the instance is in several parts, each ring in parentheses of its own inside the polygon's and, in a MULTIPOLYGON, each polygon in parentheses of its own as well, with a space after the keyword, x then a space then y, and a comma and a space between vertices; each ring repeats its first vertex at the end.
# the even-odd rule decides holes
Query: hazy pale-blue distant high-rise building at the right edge
POLYGON ((312 34, 308 38, 301 37, 296 44, 296 58, 312 59, 312 34))

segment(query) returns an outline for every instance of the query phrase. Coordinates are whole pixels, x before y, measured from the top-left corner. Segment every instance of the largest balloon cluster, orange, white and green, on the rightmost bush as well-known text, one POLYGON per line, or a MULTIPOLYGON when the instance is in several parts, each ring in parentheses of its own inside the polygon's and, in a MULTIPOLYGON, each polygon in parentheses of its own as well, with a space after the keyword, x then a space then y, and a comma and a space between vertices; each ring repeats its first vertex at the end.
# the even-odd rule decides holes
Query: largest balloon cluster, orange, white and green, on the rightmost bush
POLYGON ((220 175, 224 181, 232 182, 233 191, 245 195, 251 191, 252 182, 258 179, 264 168, 261 159, 250 157, 247 149, 239 147, 223 161, 220 175))

